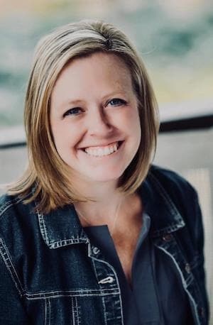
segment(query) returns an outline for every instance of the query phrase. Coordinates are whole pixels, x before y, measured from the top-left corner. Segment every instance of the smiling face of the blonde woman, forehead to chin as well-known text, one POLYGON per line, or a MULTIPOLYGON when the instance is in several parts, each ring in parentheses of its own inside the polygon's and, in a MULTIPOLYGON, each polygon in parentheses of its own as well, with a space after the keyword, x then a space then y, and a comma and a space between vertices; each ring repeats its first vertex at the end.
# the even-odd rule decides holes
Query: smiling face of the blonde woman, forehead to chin
POLYGON ((117 183, 141 141, 136 94, 121 58, 94 53, 72 60, 50 103, 55 147, 71 167, 72 184, 117 183))

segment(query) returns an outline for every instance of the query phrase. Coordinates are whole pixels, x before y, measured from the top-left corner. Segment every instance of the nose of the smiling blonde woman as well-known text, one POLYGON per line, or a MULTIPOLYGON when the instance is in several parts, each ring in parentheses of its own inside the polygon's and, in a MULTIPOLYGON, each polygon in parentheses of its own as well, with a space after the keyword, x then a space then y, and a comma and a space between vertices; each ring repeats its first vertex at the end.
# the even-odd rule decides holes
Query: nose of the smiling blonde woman
POLYGON ((89 136, 107 136, 113 130, 113 126, 109 121, 109 116, 97 107, 91 109, 87 115, 87 131, 89 136))

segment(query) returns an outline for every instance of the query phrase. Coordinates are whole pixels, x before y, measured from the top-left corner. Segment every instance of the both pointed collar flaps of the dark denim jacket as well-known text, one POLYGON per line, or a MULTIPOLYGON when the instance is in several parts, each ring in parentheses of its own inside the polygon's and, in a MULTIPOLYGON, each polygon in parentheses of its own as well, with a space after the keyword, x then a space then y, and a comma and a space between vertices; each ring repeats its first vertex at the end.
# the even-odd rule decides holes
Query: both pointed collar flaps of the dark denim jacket
MULTIPOLYGON (((138 188, 144 212, 151 217, 151 236, 163 236, 185 226, 175 204, 158 179, 150 171, 138 188)), ((40 232, 49 248, 75 243, 89 243, 73 205, 59 208, 50 214, 38 214, 40 232)))

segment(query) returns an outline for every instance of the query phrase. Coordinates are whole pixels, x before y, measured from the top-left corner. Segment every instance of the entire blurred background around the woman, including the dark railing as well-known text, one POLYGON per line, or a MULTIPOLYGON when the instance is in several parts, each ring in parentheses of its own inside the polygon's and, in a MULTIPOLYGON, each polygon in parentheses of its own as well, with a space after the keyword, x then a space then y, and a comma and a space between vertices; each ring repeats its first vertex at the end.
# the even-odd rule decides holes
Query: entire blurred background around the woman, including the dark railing
POLYGON ((0 0, 0 8, 0 183, 26 166, 23 101, 40 37, 83 18, 114 23, 136 43, 158 99, 154 163, 180 172, 199 194, 212 308, 213 1, 0 0))

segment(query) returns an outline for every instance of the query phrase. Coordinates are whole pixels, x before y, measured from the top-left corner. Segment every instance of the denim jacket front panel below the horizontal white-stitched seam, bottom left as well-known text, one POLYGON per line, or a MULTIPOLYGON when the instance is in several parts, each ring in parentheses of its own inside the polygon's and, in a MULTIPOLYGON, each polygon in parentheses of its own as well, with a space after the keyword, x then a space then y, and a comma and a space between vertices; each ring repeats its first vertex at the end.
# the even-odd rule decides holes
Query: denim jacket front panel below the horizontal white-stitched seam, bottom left
POLYGON ((27 294, 31 324, 105 324, 102 294, 99 292, 50 292, 27 294))

